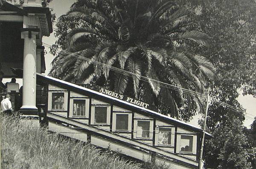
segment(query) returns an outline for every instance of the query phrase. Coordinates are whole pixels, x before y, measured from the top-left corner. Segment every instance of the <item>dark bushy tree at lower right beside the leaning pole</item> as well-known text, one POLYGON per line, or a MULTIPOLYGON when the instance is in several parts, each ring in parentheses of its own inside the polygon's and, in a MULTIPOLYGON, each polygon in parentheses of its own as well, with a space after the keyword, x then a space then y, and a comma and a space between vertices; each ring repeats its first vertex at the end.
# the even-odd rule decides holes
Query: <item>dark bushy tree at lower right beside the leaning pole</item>
POLYGON ((251 169, 248 152, 244 148, 247 139, 240 120, 230 119, 232 123, 221 123, 212 133, 214 139, 207 140, 205 149, 205 168, 251 169))

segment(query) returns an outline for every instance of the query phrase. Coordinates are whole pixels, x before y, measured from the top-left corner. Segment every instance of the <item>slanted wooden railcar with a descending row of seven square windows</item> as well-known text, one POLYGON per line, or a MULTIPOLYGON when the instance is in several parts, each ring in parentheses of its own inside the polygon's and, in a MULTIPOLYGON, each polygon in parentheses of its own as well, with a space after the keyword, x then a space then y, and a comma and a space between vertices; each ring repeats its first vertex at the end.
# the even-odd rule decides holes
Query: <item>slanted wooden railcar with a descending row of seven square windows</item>
POLYGON ((201 129, 52 77, 37 80, 48 87, 49 130, 140 160, 154 154, 173 168, 198 168, 201 129))

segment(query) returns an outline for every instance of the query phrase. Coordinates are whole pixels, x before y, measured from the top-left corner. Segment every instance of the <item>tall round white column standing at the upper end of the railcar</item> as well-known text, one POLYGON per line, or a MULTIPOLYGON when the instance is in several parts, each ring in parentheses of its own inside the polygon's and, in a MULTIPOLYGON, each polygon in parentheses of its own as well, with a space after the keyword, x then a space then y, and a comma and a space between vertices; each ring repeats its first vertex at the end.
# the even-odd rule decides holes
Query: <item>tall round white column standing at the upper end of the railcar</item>
POLYGON ((35 106, 36 92, 36 34, 29 29, 21 32, 21 38, 24 39, 23 56, 23 103, 21 112, 26 114, 36 114, 35 106), (26 113, 28 112, 28 113, 26 113), (33 112, 33 113, 32 113, 33 112))

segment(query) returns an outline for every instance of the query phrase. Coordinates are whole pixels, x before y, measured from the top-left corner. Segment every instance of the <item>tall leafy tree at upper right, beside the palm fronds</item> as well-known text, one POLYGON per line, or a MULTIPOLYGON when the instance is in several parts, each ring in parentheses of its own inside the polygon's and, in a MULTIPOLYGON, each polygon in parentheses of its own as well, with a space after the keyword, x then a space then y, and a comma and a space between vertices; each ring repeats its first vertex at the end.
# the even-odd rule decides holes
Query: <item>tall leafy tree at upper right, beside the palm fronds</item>
MULTIPOLYGON (((192 1, 188 1, 191 3, 192 1)), ((243 111, 236 98, 256 96, 256 2, 253 0, 204 0, 198 5, 194 20, 212 37, 209 48, 197 48, 215 65, 215 80, 210 83, 211 96, 243 111)), ((212 104, 207 126, 213 132, 229 116, 244 120, 241 112, 212 104)))

